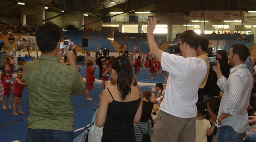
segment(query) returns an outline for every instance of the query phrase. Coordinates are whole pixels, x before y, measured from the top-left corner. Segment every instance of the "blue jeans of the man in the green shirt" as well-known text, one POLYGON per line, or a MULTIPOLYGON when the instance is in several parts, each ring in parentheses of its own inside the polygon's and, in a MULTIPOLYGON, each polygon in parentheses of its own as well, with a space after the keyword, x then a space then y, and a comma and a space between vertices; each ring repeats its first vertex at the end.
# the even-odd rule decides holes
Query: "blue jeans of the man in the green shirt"
POLYGON ((26 142, 73 142, 73 136, 69 131, 29 128, 26 142))

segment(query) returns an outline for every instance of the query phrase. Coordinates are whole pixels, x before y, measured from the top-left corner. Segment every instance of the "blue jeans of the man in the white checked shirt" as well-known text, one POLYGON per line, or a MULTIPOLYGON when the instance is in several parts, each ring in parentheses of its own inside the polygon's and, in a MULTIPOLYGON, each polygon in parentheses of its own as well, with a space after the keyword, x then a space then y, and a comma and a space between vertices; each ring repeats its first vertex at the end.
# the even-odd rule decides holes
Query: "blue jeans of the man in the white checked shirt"
POLYGON ((215 142, 243 142, 245 133, 237 133, 229 125, 221 126, 218 128, 215 142))

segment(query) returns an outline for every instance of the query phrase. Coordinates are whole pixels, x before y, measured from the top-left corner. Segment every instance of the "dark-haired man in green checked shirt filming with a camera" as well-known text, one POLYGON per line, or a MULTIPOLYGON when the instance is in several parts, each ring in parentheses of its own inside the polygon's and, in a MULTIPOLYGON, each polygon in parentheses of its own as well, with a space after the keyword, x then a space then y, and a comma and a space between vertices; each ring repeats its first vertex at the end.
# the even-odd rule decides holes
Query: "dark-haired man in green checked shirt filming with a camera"
POLYGON ((29 91, 27 142, 73 142, 74 108, 71 92, 83 95, 85 84, 73 50, 61 50, 61 29, 52 22, 39 25, 35 33, 41 56, 25 64, 23 80, 29 91), (70 66, 59 60, 67 55, 70 66))

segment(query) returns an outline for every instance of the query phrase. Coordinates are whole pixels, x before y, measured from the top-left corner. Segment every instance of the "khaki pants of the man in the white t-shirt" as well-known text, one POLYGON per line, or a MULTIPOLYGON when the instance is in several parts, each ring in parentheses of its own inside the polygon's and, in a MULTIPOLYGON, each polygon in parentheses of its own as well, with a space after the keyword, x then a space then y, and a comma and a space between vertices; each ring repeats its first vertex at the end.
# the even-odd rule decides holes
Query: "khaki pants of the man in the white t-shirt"
POLYGON ((196 117, 179 118, 159 110, 154 142, 195 142, 195 123, 196 117))

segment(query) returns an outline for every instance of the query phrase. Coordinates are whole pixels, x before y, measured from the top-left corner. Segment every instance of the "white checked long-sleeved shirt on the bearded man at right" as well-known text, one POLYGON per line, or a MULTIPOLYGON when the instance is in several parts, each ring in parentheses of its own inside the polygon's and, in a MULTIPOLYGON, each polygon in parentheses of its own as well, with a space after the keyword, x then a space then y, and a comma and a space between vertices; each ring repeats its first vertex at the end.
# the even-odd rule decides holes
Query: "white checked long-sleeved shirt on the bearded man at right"
MULTIPOLYGON (((248 130, 247 108, 253 87, 253 78, 246 64, 239 64, 230 69, 229 78, 226 79, 221 76, 217 84, 224 92, 218 118, 222 113, 231 115, 231 117, 221 121, 221 126, 229 125, 238 133, 246 132, 248 130)), ((215 125, 221 127, 218 122, 215 125)))

